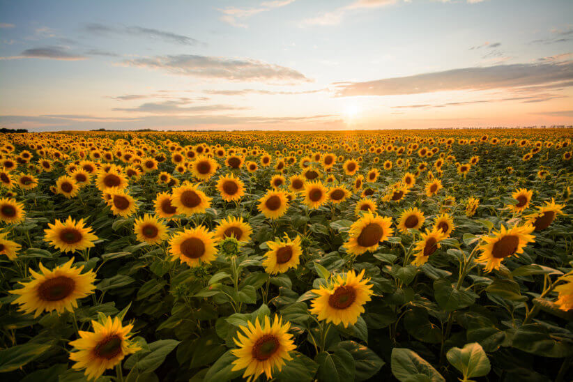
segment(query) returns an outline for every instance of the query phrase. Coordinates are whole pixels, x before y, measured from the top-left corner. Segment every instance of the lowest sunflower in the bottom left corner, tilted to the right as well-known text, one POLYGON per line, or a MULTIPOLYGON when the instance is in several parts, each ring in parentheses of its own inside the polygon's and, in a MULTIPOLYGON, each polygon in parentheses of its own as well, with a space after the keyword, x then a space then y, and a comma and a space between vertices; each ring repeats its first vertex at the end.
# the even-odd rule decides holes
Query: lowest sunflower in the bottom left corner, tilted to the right
POLYGON ((140 350, 137 344, 130 342, 133 325, 123 326, 121 319, 106 316, 105 321, 91 321, 93 332, 79 331, 79 339, 71 341, 74 351, 70 360, 76 363, 72 369, 85 369, 89 380, 98 379, 106 369, 119 365, 129 354, 140 350))

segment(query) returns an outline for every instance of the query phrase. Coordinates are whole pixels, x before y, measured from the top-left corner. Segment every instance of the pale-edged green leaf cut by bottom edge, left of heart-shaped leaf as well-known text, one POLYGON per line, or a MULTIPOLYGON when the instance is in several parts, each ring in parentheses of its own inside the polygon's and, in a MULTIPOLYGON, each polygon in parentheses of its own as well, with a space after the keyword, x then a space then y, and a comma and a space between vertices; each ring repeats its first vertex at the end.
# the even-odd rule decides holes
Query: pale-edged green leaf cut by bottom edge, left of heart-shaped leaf
POLYGON ((445 381, 443 376, 427 360, 410 349, 394 348, 391 360, 392 374, 400 382, 445 381))

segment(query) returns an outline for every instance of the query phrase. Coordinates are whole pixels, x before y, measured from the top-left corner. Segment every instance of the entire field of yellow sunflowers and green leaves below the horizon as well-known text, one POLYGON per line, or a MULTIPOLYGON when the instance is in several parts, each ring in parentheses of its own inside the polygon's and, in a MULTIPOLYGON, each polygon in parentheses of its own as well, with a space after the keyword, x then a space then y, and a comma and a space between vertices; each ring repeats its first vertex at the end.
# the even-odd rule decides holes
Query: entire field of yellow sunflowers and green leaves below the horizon
POLYGON ((571 129, 0 135, 6 381, 571 381, 571 129))

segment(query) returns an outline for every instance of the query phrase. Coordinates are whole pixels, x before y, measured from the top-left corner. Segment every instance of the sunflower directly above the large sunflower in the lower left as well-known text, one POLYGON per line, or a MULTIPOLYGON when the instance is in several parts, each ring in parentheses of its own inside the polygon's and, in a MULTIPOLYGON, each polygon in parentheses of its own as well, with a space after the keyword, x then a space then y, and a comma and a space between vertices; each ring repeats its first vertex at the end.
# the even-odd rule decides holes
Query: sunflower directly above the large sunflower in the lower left
POLYGON ((49 229, 45 229, 44 240, 56 247, 60 252, 82 251, 86 248, 93 247, 93 241, 98 240, 91 227, 84 226, 84 220, 78 222, 68 216, 68 220, 62 222, 56 220, 54 224, 48 223, 49 229))

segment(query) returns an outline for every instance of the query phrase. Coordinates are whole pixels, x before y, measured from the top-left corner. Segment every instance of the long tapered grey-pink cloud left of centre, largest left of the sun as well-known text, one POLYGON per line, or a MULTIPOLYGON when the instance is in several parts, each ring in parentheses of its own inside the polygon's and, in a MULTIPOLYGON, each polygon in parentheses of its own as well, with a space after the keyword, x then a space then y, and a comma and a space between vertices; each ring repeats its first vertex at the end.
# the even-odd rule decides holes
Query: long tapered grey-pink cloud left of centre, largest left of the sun
POLYGON ((122 61, 125 66, 165 70, 175 75, 220 78, 230 81, 310 82, 297 70, 253 59, 178 54, 122 61))

